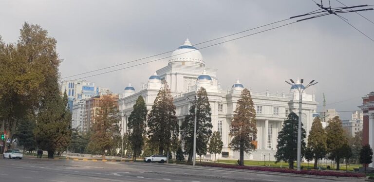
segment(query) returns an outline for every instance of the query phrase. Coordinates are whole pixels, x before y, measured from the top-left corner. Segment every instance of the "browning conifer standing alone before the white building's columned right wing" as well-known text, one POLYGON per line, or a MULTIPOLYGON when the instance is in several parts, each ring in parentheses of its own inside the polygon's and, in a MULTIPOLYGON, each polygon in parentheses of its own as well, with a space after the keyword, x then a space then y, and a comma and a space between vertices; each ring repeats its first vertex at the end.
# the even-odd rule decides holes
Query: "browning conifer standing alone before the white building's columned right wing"
POLYGON ((244 165, 244 152, 249 153, 255 149, 252 141, 256 140, 256 110, 250 92, 247 89, 242 91, 231 121, 230 136, 232 140, 230 147, 234 151, 239 150, 239 165, 244 165))

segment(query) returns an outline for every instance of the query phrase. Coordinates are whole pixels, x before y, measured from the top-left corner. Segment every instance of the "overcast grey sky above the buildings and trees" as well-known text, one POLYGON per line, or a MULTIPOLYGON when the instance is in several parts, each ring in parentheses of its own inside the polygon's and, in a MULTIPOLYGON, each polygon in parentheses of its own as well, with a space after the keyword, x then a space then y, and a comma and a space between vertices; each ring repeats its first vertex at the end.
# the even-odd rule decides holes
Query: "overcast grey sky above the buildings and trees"
MULTIPOLYGON (((342 7, 337 0, 330 1, 332 7, 342 7)), ((371 0, 339 1, 346 5, 374 4, 371 0)), ((326 6, 329 2, 323 3, 326 6)), ((17 42, 25 21, 41 25, 57 40, 64 78, 172 51, 183 44, 187 35, 192 44, 197 44, 317 9, 312 0, 1 0, 0 36, 7 43, 17 42)), ((360 14, 374 21, 374 11, 360 14)), ((355 13, 341 15, 374 39, 374 23, 355 13)), ((318 110, 322 109, 324 93, 327 109, 349 111, 340 113, 342 119, 349 119, 350 111, 358 110, 357 106, 362 104, 361 97, 374 91, 374 41, 333 15, 300 21, 200 52, 206 67, 218 69, 223 88, 239 78, 244 87, 253 91, 288 92, 290 86, 284 80, 316 80, 318 84, 307 92, 315 91, 318 110)), ((138 91, 155 70, 167 64, 168 59, 163 59, 84 80, 111 88, 114 93, 121 93, 131 82, 138 91)))

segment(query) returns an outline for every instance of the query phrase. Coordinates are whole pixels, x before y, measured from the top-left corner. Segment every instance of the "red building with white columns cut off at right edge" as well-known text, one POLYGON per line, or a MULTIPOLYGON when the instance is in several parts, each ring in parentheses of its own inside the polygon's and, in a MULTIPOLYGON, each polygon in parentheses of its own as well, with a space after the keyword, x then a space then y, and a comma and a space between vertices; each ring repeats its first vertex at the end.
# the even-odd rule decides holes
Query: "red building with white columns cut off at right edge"
MULTIPOLYGON (((362 97, 363 103, 358 108, 363 112, 363 129, 362 129, 362 144, 369 144, 374 146, 374 91, 362 97)), ((374 158, 373 158, 374 161, 374 158)), ((369 167, 374 167, 374 163, 369 164, 369 167)))

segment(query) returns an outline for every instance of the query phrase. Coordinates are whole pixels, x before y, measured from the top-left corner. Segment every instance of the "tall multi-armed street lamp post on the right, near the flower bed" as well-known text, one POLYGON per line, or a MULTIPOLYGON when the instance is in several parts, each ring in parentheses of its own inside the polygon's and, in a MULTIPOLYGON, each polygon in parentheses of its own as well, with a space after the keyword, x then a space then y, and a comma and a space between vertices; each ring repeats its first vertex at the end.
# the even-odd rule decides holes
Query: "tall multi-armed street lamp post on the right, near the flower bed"
POLYGON ((288 81, 285 81, 286 83, 288 83, 289 85, 291 85, 292 87, 296 87, 296 89, 298 89, 299 91, 299 123, 298 123, 298 158, 297 158, 297 170, 300 171, 301 168, 300 168, 300 164, 301 164, 301 119, 302 119, 302 116, 301 116, 301 113, 302 113, 302 92, 305 91, 308 87, 312 86, 312 85, 316 85, 318 82, 316 83, 313 83, 314 80, 312 80, 311 82, 308 83, 308 85, 306 85, 304 88, 302 86, 302 83, 304 82, 304 79, 301 79, 300 80, 300 83, 295 83, 294 80, 290 79, 291 83, 288 82, 288 81))

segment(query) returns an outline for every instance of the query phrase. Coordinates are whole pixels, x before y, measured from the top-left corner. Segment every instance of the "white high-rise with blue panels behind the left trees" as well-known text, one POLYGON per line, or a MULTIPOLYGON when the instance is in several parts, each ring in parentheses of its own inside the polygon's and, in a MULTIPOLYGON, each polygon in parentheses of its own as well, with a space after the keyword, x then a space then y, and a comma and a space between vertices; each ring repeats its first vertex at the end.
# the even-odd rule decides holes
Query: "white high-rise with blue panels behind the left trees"
POLYGON ((73 112, 73 105, 80 100, 87 100, 96 95, 105 95, 111 93, 110 89, 95 86, 93 82, 84 80, 63 81, 60 86, 61 93, 66 91, 70 112, 73 112))

